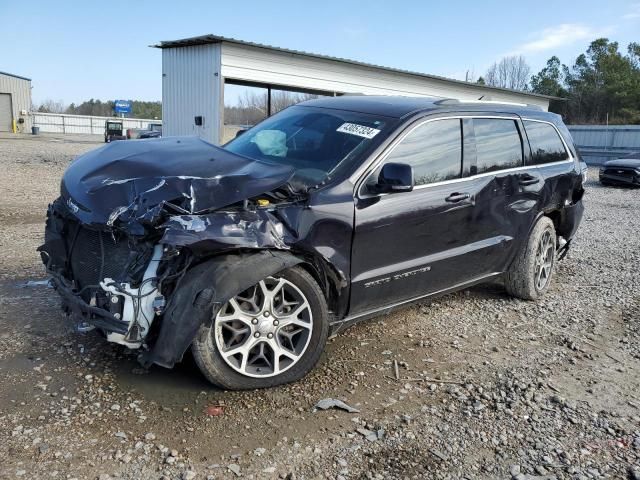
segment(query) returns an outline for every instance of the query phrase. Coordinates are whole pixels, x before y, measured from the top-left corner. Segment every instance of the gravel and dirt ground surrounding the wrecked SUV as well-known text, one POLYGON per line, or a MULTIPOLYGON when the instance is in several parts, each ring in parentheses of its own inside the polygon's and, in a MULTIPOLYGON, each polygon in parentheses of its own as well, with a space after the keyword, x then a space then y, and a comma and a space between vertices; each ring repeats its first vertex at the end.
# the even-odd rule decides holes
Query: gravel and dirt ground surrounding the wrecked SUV
POLYGON ((0 478, 640 479, 640 191, 591 173, 540 301, 491 284, 412 305, 294 385, 234 393, 190 359, 141 370, 24 286, 60 175, 98 145, 0 137, 0 478), (326 397, 359 413, 314 412, 326 397))

